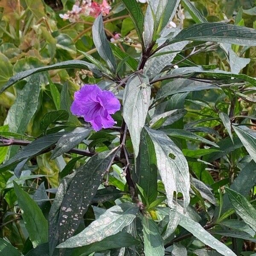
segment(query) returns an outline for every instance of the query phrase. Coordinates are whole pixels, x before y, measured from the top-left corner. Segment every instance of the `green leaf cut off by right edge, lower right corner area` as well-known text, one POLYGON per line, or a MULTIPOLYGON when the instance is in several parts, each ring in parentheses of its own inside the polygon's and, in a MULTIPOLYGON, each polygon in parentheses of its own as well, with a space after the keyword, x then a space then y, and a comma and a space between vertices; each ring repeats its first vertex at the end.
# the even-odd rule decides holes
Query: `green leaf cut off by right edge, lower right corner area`
POLYGON ((254 231, 256 231, 256 209, 253 208, 243 195, 233 189, 225 188, 225 191, 227 192, 233 208, 236 210, 236 214, 239 215, 254 231))

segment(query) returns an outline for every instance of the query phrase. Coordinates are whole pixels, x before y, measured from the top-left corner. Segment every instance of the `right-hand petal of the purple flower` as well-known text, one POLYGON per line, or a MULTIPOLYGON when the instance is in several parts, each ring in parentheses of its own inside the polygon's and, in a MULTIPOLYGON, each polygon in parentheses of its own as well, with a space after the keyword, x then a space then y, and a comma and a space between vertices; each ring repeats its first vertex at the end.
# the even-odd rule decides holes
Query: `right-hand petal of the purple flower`
POLYGON ((121 107, 120 102, 116 99, 115 95, 107 90, 98 94, 97 100, 100 102, 103 108, 108 111, 109 114, 116 113, 121 107))

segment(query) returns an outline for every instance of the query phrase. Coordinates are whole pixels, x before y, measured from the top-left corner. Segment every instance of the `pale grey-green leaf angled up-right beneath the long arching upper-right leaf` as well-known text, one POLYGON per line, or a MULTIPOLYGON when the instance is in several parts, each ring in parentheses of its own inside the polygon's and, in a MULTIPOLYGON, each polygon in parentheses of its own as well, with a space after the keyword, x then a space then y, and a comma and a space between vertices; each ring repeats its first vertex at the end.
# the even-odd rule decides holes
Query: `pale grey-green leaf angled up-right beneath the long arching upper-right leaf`
POLYGON ((160 73, 163 68, 172 64, 175 56, 189 43, 189 41, 177 42, 168 45, 157 51, 156 55, 148 59, 145 66, 145 74, 153 78, 160 73), (159 56, 159 54, 162 54, 159 56))

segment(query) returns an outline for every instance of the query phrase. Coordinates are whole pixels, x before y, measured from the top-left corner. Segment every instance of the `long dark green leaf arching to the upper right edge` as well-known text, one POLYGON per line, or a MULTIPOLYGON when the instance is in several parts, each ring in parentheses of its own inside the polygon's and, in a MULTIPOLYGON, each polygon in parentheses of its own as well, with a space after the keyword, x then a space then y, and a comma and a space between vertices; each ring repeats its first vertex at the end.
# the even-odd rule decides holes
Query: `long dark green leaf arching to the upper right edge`
POLYGON ((256 46, 256 30, 218 22, 195 24, 183 29, 175 38, 167 40, 166 43, 173 44, 184 40, 256 46))

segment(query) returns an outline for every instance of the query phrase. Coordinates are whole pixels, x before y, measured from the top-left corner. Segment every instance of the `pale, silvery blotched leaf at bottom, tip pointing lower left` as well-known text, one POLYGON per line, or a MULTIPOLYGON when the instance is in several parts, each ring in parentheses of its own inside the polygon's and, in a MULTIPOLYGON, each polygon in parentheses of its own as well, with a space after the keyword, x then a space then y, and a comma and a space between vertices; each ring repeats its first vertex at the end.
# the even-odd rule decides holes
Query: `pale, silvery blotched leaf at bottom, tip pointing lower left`
POLYGON ((128 226, 136 217, 138 207, 129 202, 106 210, 78 235, 58 245, 58 248, 74 248, 92 244, 114 235, 128 226))

